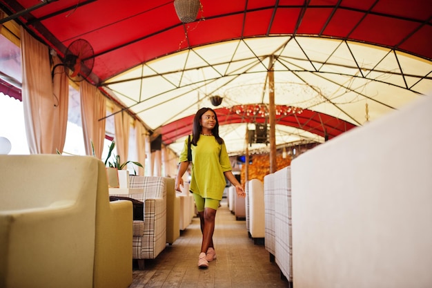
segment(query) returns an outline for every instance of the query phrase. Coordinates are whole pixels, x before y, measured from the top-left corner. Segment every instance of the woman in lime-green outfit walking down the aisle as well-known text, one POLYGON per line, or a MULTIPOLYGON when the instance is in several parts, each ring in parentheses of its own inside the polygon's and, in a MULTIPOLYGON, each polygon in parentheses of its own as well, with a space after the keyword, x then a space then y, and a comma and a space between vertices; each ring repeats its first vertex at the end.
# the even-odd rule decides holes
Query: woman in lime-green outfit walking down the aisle
MULTIPOLYGON (((190 142, 192 151, 190 191, 197 206, 202 231, 198 267, 208 268, 208 262, 216 259, 213 232, 216 211, 226 186, 225 177, 235 186, 238 197, 244 198, 246 194, 231 172, 230 160, 224 140, 219 137, 219 122, 213 109, 201 108, 195 114, 190 142)), ((180 191, 180 185, 183 186, 182 177, 189 166, 188 139, 184 142, 179 162, 179 171, 175 180, 177 191, 180 191)))

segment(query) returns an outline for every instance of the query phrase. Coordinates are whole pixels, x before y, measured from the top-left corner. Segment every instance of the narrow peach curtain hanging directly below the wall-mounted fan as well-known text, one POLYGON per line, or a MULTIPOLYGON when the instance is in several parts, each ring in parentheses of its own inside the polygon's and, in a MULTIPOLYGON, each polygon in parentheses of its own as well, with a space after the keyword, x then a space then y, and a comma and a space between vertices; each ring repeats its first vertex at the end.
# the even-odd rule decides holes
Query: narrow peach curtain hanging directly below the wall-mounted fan
MULTIPOLYGON (((59 57, 53 57, 53 67, 61 64, 59 57)), ((66 142, 66 127, 68 126, 68 106, 69 106, 69 78, 64 73, 63 66, 57 66, 52 79, 52 90, 57 105, 55 106, 55 146, 60 153, 63 153, 64 143, 66 142)))

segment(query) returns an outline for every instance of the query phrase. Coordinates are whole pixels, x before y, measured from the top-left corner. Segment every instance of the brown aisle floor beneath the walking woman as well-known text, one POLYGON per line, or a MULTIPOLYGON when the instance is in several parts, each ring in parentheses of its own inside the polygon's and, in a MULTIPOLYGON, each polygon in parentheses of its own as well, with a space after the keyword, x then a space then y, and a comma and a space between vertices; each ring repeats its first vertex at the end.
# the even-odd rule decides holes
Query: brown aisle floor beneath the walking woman
POLYGON ((222 200, 217 211, 213 236, 217 259, 208 269, 197 267, 201 239, 199 219, 193 218, 172 246, 167 245, 155 260, 146 260, 144 271, 134 267, 130 288, 288 287, 277 265, 270 262, 268 251, 248 238, 246 222, 235 220, 226 201, 222 200))

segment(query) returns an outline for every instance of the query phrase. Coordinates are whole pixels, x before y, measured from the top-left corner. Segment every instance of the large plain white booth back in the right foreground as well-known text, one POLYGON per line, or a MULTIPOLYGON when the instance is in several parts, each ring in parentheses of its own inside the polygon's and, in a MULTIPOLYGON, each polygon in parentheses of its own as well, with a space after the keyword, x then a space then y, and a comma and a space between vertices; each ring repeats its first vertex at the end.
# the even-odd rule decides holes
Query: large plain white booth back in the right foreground
POLYGON ((294 287, 432 287, 431 96, 291 169, 294 287))

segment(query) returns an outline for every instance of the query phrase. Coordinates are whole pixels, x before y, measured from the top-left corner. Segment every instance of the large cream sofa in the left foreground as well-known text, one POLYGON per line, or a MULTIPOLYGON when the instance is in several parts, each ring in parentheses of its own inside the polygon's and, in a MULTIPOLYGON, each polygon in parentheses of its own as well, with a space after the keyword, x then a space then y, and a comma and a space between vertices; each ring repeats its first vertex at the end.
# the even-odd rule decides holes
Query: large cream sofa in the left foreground
POLYGON ((132 204, 89 156, 0 155, 0 287, 128 287, 132 204))

